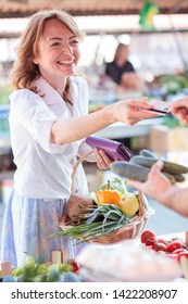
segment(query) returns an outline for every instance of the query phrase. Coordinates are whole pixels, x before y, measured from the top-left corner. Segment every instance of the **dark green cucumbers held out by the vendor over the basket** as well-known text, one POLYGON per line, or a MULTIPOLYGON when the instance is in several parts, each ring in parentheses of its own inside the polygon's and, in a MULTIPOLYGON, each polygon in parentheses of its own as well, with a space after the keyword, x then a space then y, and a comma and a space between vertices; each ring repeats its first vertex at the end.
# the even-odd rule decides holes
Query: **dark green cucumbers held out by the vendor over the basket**
MULTIPOLYGON (((151 166, 159 159, 149 150, 141 150, 140 155, 134 155, 129 162, 114 162, 110 165, 111 170, 122 177, 145 182, 148 179, 148 174, 151 166)), ((163 174, 171 180, 172 183, 185 181, 184 175, 188 173, 188 167, 163 161, 163 174)))

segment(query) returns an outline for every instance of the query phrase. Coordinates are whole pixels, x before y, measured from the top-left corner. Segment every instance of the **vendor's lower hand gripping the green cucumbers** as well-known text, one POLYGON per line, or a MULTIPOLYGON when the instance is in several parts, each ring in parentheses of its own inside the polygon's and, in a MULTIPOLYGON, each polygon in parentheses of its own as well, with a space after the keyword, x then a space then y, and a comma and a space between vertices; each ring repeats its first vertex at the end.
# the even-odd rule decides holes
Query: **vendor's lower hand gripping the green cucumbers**
POLYGON ((128 180, 128 183, 152 199, 163 201, 163 195, 167 193, 172 185, 168 178, 162 174, 162 168, 163 162, 158 161, 154 165, 152 165, 146 182, 128 180))

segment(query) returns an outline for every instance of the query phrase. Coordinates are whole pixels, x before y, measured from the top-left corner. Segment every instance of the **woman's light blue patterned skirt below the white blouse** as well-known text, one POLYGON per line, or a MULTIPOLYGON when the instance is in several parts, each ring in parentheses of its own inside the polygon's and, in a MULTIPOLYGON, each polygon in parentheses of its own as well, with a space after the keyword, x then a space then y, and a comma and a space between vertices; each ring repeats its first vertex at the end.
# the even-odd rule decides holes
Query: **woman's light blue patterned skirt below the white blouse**
POLYGON ((59 220, 66 211, 66 200, 28 199, 14 190, 5 206, 2 225, 1 262, 10 262, 12 267, 24 263, 25 252, 36 262, 50 262, 51 252, 67 249, 68 257, 74 258, 84 244, 71 239, 49 236, 60 231, 59 220))

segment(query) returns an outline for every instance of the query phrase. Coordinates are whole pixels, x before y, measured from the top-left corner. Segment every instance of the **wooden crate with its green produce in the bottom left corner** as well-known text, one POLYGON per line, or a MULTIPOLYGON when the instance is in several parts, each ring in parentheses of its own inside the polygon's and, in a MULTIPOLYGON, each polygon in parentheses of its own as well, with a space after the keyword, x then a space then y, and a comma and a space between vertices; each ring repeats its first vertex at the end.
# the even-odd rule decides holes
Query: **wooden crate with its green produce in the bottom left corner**
POLYGON ((26 254, 23 264, 11 268, 10 262, 0 264, 2 282, 79 282, 78 264, 70 259, 67 250, 52 251, 51 262, 36 262, 26 254))

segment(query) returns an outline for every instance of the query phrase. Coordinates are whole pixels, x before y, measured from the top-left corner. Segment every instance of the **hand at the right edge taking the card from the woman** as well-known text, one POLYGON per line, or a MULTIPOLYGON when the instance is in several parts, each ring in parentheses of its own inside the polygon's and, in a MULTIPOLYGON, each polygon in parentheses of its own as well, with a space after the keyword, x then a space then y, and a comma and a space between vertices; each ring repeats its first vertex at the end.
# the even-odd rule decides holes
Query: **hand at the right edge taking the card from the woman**
POLYGON ((170 106, 172 114, 188 125, 188 97, 171 102, 170 106))

